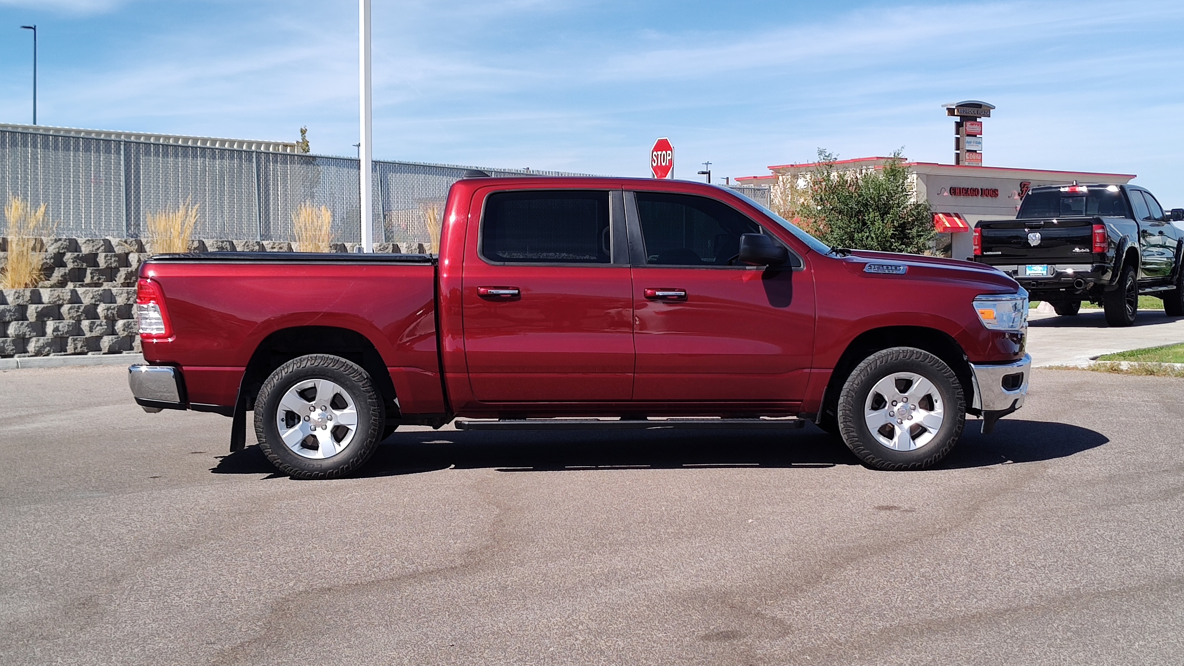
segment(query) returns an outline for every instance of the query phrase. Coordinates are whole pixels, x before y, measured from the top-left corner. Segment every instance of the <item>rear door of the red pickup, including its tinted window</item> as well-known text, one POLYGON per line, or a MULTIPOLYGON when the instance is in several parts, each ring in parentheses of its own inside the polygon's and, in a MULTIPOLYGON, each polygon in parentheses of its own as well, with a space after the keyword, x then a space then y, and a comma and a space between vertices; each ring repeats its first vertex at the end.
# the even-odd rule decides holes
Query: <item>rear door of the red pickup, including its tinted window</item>
POLYGON ((632 396, 633 327, 622 192, 487 188, 462 278, 464 353, 482 403, 632 396))

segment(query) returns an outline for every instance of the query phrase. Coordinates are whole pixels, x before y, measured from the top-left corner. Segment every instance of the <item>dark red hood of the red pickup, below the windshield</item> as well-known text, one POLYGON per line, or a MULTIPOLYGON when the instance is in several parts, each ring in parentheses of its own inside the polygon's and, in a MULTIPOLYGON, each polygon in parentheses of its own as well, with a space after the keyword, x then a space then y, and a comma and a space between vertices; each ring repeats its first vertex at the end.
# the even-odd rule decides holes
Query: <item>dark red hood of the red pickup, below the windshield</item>
POLYGON ((973 284, 989 293, 1015 294, 1019 290, 1019 283, 1008 274, 995 267, 974 262, 869 250, 852 250, 842 261, 847 263, 848 270, 863 274, 869 278, 907 276, 912 280, 973 284), (899 267, 903 267, 903 270, 899 267))

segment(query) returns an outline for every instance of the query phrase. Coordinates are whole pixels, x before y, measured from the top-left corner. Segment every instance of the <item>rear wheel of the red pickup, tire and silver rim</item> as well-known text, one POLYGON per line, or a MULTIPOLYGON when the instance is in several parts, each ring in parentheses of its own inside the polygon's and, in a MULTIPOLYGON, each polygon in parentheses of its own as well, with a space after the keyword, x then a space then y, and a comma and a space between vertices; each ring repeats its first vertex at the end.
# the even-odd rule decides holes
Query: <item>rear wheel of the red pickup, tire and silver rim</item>
POLYGON ((382 435, 382 401, 369 374, 335 356, 309 354, 281 365, 255 404, 259 448, 296 479, 353 472, 382 435))

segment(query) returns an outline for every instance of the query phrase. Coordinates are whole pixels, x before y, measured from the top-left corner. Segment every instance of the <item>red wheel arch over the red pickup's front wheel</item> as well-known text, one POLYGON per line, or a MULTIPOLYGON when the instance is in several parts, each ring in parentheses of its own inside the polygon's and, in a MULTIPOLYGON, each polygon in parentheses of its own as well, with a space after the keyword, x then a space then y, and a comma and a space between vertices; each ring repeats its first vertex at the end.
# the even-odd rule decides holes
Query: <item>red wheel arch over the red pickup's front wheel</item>
POLYGON ((860 333, 843 350, 823 390, 819 421, 837 414, 838 393, 851 371, 871 354, 890 347, 914 347, 940 358, 961 383, 966 404, 973 404, 974 382, 971 378, 970 360, 952 335, 925 326, 883 326, 860 333))

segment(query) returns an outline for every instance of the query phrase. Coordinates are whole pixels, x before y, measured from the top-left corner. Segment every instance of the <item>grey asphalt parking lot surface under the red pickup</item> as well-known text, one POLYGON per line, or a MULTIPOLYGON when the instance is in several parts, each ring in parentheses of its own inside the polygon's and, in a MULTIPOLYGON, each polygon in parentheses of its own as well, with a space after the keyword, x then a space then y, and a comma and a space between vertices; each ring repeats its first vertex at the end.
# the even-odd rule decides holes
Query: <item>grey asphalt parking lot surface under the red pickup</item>
POLYGON ((1037 370, 937 469, 397 433, 292 481, 118 367, 0 372, 0 664, 1180 664, 1184 380, 1037 370))

